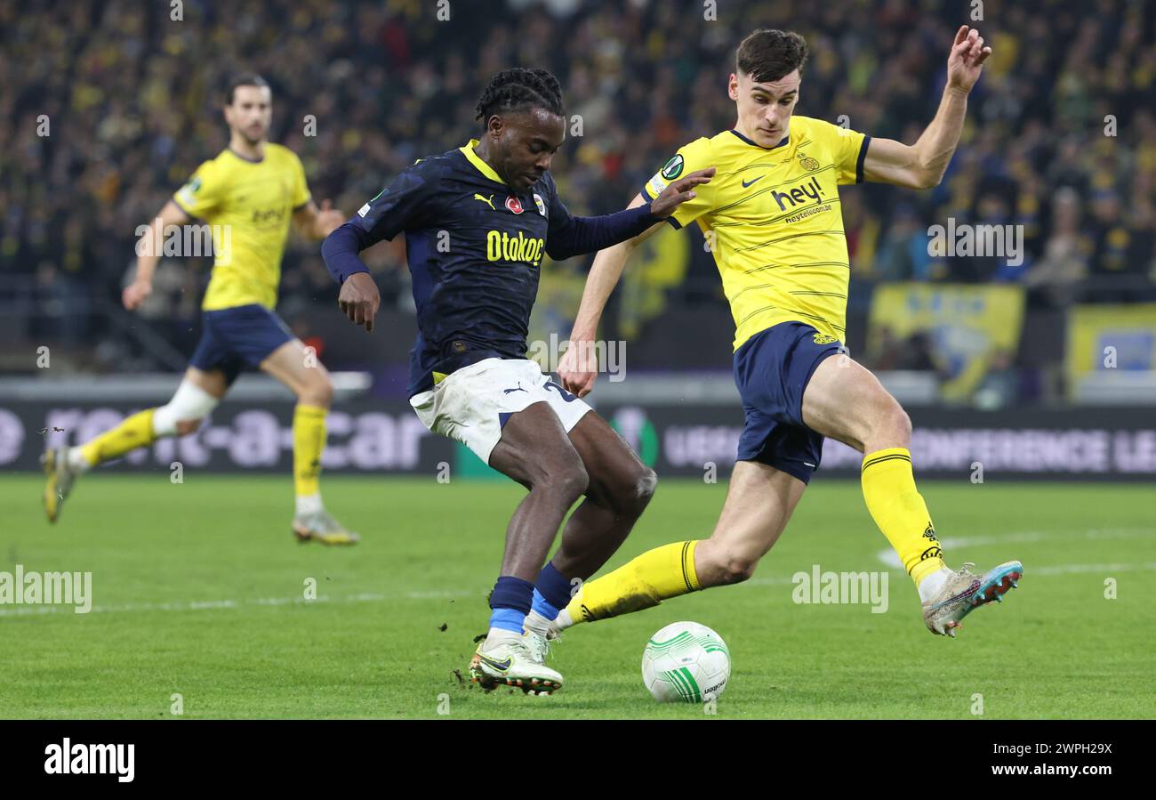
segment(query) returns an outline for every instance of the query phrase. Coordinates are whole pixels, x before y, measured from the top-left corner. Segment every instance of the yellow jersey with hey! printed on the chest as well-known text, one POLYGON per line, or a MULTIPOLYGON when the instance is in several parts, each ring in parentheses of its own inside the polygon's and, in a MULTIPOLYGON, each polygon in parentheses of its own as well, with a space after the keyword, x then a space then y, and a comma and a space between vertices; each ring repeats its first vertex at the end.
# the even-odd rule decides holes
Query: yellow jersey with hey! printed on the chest
POLYGON ((653 200, 677 178, 717 168, 669 220, 676 228, 697 221, 703 229, 731 303, 735 350, 791 320, 845 343, 851 265, 838 187, 862 183, 869 141, 794 116, 776 147, 724 131, 680 149, 646 183, 643 194, 653 200))

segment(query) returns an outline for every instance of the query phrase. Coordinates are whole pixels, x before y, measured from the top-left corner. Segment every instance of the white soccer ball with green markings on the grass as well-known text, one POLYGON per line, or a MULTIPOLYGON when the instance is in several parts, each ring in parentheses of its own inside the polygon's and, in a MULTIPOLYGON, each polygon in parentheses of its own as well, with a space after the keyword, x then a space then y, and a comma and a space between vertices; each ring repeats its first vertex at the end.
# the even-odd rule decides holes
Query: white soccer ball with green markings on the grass
POLYGON ((643 651, 643 683, 659 703, 706 703, 726 689, 731 651, 706 625, 675 622, 643 651))

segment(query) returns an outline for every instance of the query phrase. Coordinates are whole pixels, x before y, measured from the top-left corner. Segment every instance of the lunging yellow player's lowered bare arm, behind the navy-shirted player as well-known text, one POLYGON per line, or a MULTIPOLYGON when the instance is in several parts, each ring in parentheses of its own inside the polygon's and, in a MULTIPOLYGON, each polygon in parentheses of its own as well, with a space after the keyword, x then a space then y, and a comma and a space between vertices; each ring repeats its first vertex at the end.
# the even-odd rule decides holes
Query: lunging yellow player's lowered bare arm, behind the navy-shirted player
MULTIPOLYGON (((638 208, 645 202, 646 200, 639 193, 635 195, 627 208, 638 208)), ((657 234, 661 227, 661 222, 655 222, 632 239, 600 250, 594 257, 594 265, 586 277, 586 288, 583 289, 578 316, 575 318, 575 325, 570 332, 570 346, 558 364, 558 377, 562 379, 562 387, 568 392, 584 398, 594 387, 598 363, 593 343, 598 335, 598 324, 602 318, 602 310, 606 309, 606 301, 614 291, 614 287, 618 284, 622 271, 627 266, 627 259, 635 252, 635 247, 657 234)))

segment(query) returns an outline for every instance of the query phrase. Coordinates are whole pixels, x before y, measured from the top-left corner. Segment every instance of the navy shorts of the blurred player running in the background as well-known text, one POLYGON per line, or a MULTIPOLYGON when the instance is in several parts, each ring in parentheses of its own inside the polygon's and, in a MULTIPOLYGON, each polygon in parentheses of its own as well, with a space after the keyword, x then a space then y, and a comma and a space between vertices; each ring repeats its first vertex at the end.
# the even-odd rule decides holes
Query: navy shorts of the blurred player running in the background
POLYGON ((221 370, 231 385, 245 365, 257 366, 295 336, 264 305, 238 305, 201 313, 201 340, 190 360, 199 370, 221 370))

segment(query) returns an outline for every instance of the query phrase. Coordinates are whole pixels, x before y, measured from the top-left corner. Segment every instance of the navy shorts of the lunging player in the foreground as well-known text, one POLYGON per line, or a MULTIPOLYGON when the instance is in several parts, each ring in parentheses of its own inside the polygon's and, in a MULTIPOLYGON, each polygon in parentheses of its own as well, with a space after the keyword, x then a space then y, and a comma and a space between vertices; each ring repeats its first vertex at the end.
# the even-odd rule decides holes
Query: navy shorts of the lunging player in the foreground
POLYGON ((734 383, 747 424, 740 461, 759 461, 803 483, 823 454, 823 437, 802 422, 802 393, 818 363, 842 343, 803 323, 779 323, 755 334, 734 354, 734 383))

